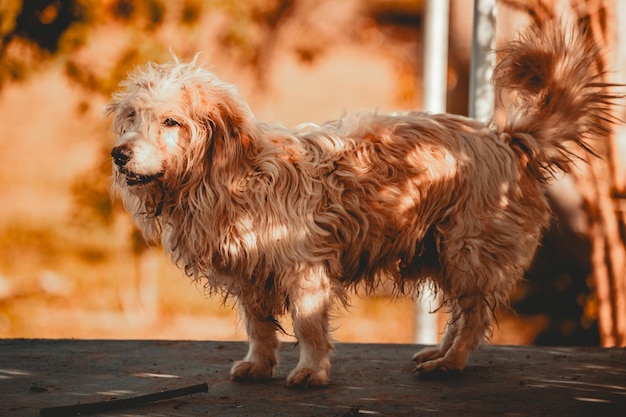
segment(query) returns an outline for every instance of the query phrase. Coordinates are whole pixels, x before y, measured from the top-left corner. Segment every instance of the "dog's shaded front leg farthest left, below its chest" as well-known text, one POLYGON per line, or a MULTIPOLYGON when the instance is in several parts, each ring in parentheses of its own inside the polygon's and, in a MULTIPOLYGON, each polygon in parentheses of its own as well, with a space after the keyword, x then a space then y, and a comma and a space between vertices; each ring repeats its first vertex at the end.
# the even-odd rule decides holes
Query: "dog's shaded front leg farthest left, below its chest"
POLYGON ((230 375, 234 381, 270 379, 278 365, 276 321, 270 311, 239 302, 248 333, 248 354, 233 365, 230 375))

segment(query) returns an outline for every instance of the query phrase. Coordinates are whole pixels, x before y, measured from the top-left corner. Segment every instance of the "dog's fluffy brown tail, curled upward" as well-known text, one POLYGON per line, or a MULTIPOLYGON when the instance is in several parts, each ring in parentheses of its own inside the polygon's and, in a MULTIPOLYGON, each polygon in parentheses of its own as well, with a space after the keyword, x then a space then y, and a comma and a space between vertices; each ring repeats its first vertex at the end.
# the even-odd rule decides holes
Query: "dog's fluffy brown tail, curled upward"
POLYGON ((572 145, 594 152, 614 121, 617 95, 603 81, 599 48, 578 28, 559 22, 534 24, 499 51, 494 70, 498 97, 517 97, 503 133, 528 169, 540 180, 555 170, 569 172, 572 145))

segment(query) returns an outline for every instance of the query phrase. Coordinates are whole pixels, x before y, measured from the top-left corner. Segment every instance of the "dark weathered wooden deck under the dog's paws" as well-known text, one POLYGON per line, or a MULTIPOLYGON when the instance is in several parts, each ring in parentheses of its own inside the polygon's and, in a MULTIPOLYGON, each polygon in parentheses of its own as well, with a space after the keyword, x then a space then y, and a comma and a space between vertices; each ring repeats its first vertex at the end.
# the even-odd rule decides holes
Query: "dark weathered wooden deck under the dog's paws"
POLYGON ((234 383, 239 342, 0 340, 0 416, 201 383, 198 393, 107 416, 625 416, 626 349, 485 346, 453 378, 411 372, 413 345, 338 344, 325 389, 285 388, 297 361, 264 384, 234 383))

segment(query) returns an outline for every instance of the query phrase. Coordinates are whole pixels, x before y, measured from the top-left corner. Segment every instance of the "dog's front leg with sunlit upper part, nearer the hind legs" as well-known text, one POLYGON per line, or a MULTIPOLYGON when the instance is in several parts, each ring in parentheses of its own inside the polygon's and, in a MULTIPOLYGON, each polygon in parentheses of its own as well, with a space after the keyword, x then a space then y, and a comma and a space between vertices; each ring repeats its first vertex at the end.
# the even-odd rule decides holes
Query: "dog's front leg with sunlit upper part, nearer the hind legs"
POLYGON ((330 351, 329 329, 331 285, 323 267, 305 268, 289 291, 289 308, 298 338, 300 360, 287 377, 288 387, 328 385, 330 351))

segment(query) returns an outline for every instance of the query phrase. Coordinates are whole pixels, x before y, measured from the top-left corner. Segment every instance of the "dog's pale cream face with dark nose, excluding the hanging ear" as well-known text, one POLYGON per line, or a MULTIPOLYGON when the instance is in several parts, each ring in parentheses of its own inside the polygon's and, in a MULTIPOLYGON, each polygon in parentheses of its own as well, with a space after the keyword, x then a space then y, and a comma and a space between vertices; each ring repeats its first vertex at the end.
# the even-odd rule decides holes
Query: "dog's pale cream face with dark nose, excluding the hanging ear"
POLYGON ((115 116, 117 140, 111 156, 117 185, 161 181, 176 170, 192 135, 200 134, 201 121, 192 119, 190 108, 190 95, 200 80, 189 70, 179 64, 149 64, 120 84, 123 90, 105 108, 115 116))

